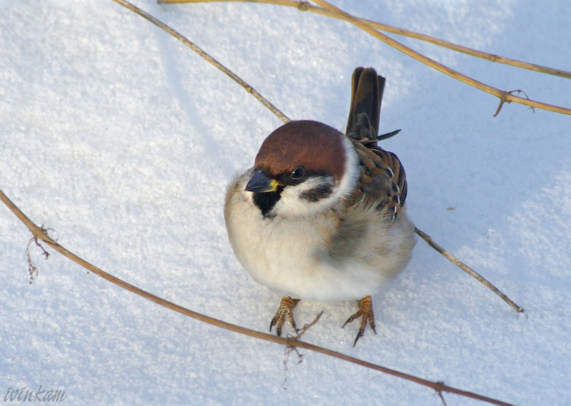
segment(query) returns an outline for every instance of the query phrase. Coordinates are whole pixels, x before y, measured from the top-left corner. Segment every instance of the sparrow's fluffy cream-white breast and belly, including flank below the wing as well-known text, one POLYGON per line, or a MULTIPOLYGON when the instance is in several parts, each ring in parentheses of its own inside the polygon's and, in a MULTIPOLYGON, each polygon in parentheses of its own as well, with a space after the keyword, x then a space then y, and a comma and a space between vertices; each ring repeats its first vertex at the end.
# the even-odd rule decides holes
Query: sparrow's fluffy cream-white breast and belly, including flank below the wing
MULTIPOLYGON (((393 248, 384 247, 392 238, 378 224, 359 226, 357 233, 333 213, 265 217, 251 200, 240 186, 228 192, 225 218, 232 248, 253 278, 283 295, 320 302, 363 298, 392 280, 410 258, 395 263, 393 248)), ((354 217, 351 224, 362 223, 354 217)))

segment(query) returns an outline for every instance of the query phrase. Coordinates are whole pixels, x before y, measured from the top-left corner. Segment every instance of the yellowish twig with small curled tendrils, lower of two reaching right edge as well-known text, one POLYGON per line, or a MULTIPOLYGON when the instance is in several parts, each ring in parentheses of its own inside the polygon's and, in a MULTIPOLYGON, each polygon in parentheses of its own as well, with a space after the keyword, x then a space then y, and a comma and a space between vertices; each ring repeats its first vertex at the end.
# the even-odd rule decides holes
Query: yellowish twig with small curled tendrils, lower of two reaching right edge
POLYGON ((507 103, 514 102, 518 104, 523 104, 524 106, 542 108, 543 110, 554 111, 555 113, 571 115, 571 108, 553 106, 552 104, 542 103, 540 101, 514 96, 509 92, 502 91, 498 88, 477 81, 474 78, 470 78, 470 76, 466 76, 465 74, 455 71, 452 68, 448 68, 448 66, 440 64, 440 62, 437 62, 434 59, 430 59, 428 58, 428 56, 424 56, 423 54, 418 53, 417 51, 409 48, 408 46, 400 44, 400 42, 395 41, 394 39, 390 38, 390 36, 386 36, 385 34, 375 29, 375 27, 373 27, 368 22, 363 21, 362 19, 358 19, 357 17, 352 16, 351 14, 348 14, 347 12, 339 9, 338 7, 333 6, 333 4, 328 3, 328 1, 313 0, 313 2, 319 4, 320 6, 325 7, 325 9, 328 9, 332 12, 339 14, 340 16, 343 16, 343 19, 349 21, 351 24, 355 26, 358 26, 360 29, 362 29, 365 32, 368 32, 372 36, 375 36, 375 38, 380 39, 381 41, 385 42, 385 44, 388 44, 393 48, 397 49, 398 51, 403 52, 403 54, 408 55, 411 58, 414 58, 417 61, 420 61, 423 64, 428 65, 431 68, 434 68, 441 73, 444 73, 445 75, 448 75, 464 83, 467 83, 468 85, 480 89, 481 91, 485 91, 486 93, 489 93, 492 96, 496 96, 497 98, 500 99, 500 101, 505 101, 507 103))

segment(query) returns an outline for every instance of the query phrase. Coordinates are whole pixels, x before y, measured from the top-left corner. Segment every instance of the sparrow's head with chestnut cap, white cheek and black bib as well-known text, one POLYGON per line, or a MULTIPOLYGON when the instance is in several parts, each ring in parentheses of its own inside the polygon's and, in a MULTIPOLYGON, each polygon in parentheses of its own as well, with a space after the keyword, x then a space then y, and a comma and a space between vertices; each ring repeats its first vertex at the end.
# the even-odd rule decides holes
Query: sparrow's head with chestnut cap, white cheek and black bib
POLYGON ((317 121, 290 121, 263 141, 246 191, 265 217, 307 216, 335 207, 359 176, 351 141, 317 121))

